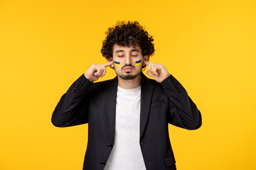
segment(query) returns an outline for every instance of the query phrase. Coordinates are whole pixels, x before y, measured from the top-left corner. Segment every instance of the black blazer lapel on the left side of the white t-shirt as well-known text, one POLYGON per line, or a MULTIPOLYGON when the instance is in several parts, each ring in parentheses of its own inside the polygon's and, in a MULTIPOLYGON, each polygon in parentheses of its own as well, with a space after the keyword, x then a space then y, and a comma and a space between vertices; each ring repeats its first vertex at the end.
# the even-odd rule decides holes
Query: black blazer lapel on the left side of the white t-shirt
POLYGON ((116 104, 117 104, 117 85, 118 79, 112 79, 106 88, 104 88, 105 103, 107 108, 108 122, 113 141, 115 140, 115 120, 116 120, 116 104))

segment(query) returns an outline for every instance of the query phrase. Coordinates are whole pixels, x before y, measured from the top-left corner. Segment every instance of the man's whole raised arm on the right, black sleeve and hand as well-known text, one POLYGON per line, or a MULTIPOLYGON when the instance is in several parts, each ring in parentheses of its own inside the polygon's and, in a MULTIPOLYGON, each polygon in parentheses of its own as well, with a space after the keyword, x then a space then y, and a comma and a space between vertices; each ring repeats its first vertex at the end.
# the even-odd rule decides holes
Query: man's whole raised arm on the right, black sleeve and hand
POLYGON ((169 123, 180 128, 195 130, 202 125, 202 116, 185 88, 170 75, 163 64, 144 61, 148 66, 147 75, 161 83, 168 96, 169 123), (155 73, 155 74, 153 74, 155 73))

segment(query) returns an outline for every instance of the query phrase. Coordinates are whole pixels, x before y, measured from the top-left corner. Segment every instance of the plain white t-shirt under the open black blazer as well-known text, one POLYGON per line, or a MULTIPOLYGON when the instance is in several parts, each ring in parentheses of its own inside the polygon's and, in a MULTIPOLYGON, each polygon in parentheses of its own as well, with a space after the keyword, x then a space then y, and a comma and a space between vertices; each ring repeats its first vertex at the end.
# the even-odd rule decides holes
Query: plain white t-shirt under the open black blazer
POLYGON ((104 170, 146 170, 139 145, 141 86, 117 87, 115 144, 104 170))

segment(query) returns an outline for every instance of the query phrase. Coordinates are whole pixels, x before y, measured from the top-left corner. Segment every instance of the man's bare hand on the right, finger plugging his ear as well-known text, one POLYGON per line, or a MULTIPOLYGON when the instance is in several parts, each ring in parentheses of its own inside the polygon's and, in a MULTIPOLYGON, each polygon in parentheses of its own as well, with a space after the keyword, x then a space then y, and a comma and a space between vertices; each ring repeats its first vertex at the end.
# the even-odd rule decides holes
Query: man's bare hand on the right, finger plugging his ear
POLYGON ((148 71, 146 72, 148 76, 155 79, 155 81, 161 83, 170 76, 168 71, 166 70, 165 66, 163 64, 157 64, 153 62, 147 62, 144 60, 144 64, 148 66, 148 71))

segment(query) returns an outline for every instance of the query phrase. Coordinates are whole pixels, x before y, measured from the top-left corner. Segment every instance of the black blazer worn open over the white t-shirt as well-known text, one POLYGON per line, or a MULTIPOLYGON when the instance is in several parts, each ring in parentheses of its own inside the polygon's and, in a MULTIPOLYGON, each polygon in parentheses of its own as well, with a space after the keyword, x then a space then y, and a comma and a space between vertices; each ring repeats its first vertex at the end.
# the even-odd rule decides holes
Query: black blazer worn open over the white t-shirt
MULTIPOLYGON (((52 113, 57 127, 88 123, 83 170, 103 170, 115 147, 117 84, 117 77, 92 83, 81 75, 52 113)), ((202 117, 173 75, 158 83, 141 73, 139 143, 147 170, 176 170, 168 123, 195 130, 202 125, 202 117)))

